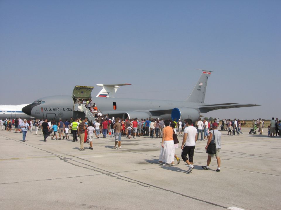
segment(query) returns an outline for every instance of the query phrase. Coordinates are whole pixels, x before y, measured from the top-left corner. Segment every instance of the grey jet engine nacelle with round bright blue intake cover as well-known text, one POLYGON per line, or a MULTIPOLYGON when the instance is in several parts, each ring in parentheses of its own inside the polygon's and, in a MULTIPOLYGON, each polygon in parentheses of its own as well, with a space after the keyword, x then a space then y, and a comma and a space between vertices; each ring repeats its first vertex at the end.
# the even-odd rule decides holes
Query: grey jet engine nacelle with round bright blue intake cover
POLYGON ((194 108, 174 108, 171 114, 173 120, 185 120, 191 119, 192 122, 196 122, 199 118, 199 112, 194 108))

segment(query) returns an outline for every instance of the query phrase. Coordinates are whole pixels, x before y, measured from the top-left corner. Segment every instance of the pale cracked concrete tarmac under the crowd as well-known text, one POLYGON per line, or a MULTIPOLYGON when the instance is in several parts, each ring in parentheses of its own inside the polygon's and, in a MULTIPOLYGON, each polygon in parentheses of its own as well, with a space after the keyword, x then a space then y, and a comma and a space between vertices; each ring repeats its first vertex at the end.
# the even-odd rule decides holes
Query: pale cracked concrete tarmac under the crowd
MULTIPOLYGON (((80 143, 43 141, 43 135, 0 130, 0 206, 4 209, 280 209, 281 138, 227 136, 222 131, 221 172, 206 164, 206 141, 197 141, 194 169, 157 164, 161 139, 122 136, 80 143), (235 208, 234 208, 235 207, 235 208)), ((101 135, 102 136, 102 135, 101 135)), ((178 136, 180 145, 182 136, 178 136)), ((181 149, 175 150, 181 157, 181 149)))

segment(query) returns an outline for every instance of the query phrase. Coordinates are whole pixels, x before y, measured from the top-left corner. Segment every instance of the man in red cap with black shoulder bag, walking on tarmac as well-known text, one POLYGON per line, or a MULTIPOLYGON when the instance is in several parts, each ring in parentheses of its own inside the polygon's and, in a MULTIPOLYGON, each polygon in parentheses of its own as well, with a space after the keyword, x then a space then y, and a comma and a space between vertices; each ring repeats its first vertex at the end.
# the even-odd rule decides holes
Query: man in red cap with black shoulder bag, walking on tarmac
POLYGON ((211 163, 212 157, 217 158, 217 172, 220 172, 220 149, 221 149, 221 132, 217 130, 217 123, 213 123, 213 130, 210 131, 210 136, 205 147, 208 153, 207 165, 201 166, 205 170, 209 170, 209 165, 211 163))

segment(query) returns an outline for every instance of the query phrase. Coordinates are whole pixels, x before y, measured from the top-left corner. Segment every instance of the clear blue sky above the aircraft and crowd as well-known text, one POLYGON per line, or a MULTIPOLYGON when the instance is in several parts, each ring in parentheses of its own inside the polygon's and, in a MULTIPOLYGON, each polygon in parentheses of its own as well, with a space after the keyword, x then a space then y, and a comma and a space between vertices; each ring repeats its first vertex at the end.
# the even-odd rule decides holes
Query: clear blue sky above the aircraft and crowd
POLYGON ((131 83, 118 97, 184 100, 201 74, 195 69, 205 69, 214 71, 205 103, 262 105, 205 116, 281 117, 280 8, 281 1, 1 0, 0 104, 98 83, 131 83))

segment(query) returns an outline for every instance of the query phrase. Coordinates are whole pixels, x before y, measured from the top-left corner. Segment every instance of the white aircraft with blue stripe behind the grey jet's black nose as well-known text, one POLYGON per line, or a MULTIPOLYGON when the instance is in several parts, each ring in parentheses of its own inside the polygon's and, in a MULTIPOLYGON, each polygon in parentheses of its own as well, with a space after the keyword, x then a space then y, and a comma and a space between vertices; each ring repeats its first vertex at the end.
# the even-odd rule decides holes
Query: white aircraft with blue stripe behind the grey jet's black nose
POLYGON ((23 113, 22 108, 27 106, 28 104, 20 104, 20 105, 0 105, 0 119, 30 119, 33 118, 30 115, 23 113))

